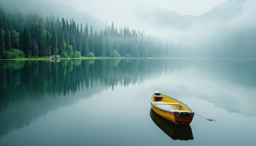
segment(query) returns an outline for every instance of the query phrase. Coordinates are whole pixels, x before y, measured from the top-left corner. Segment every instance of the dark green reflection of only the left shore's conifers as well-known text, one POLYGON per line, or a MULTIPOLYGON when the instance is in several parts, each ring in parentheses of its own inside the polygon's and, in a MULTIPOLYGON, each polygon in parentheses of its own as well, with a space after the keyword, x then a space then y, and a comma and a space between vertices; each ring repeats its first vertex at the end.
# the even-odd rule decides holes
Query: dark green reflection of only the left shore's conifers
POLYGON ((22 100, 27 95, 30 95, 29 98, 56 93, 65 96, 80 88, 88 88, 89 82, 100 82, 112 89, 117 85, 127 86, 141 82, 138 76, 153 77, 171 69, 172 63, 168 63, 167 59, 61 60, 58 63, 2 60, 0 89, 4 92, 0 103, 6 104, 10 99, 22 100))

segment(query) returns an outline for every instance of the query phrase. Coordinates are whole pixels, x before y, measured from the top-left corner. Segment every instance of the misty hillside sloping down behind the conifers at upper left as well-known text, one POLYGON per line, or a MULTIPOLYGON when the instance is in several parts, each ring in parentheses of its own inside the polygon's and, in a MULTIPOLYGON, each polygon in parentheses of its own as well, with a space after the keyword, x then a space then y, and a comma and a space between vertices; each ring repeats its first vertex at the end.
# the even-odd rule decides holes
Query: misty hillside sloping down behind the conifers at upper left
POLYGON ((93 25, 94 30, 99 31, 105 28, 99 18, 96 18, 88 13, 82 13, 77 11, 74 7, 56 3, 51 0, 0 0, 0 6, 4 7, 5 10, 18 11, 23 14, 31 13, 41 15, 44 19, 46 17, 54 16, 56 19, 63 18, 74 18, 79 24, 86 24, 88 26, 93 25))

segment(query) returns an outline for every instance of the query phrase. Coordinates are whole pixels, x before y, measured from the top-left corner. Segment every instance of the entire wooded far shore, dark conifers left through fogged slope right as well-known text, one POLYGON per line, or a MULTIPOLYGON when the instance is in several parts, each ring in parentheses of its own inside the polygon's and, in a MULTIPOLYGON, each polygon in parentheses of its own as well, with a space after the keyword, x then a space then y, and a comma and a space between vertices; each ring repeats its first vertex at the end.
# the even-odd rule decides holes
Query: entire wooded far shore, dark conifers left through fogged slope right
POLYGON ((256 58, 256 29, 252 27, 222 29, 187 45, 128 26, 117 28, 114 22, 97 30, 97 24, 88 23, 0 7, 0 59, 256 58))

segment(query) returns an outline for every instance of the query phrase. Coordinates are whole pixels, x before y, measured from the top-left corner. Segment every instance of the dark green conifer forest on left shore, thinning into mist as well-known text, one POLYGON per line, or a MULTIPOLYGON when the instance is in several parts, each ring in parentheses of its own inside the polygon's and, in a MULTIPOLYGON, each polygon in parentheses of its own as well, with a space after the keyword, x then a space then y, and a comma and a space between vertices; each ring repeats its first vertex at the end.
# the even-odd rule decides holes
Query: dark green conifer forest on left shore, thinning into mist
POLYGON ((85 57, 174 57, 186 46, 163 42, 128 26, 117 29, 106 24, 99 32, 72 18, 51 15, 46 20, 38 14, 23 15, 0 8, 0 58, 85 57), (177 51, 177 49, 179 49, 177 51), (176 52, 176 53, 175 53, 176 52))

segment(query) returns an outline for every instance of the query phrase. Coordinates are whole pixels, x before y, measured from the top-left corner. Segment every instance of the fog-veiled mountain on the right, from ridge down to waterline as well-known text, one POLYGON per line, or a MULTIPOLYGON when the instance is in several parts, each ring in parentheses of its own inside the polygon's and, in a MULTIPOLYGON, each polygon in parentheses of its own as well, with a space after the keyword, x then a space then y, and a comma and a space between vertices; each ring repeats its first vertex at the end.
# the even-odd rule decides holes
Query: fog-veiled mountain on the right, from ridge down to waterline
POLYGON ((192 57, 256 58, 255 0, 227 0, 200 16, 151 9, 139 16, 167 39, 194 48, 192 57))

